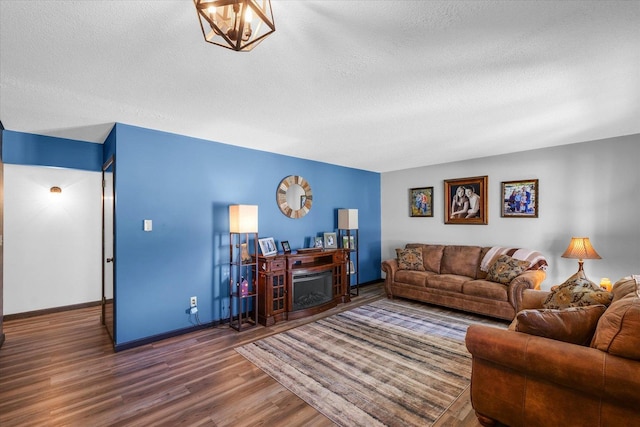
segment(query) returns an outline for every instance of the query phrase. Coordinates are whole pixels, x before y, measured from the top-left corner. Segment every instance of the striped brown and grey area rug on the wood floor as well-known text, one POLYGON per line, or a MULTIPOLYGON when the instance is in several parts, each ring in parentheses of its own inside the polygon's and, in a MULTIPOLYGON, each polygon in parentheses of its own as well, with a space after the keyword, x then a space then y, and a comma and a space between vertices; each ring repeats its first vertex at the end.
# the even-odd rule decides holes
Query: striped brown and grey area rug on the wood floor
POLYGON ((405 300, 373 303, 236 348, 341 426, 428 426, 469 385, 473 323, 405 300))

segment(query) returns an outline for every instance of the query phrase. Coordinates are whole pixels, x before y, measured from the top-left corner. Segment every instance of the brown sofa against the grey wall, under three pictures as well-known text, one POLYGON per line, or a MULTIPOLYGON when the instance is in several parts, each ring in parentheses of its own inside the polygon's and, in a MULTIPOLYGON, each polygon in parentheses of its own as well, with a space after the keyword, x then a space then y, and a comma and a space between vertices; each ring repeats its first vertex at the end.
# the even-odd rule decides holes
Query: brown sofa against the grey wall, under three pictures
POLYGON ((405 245, 405 249, 410 248, 421 249, 424 271, 400 269, 397 258, 383 261, 389 298, 408 298, 512 320, 519 311, 523 291, 538 289, 545 278, 543 270, 535 269, 524 271, 508 284, 487 280, 481 264, 491 247, 405 245))

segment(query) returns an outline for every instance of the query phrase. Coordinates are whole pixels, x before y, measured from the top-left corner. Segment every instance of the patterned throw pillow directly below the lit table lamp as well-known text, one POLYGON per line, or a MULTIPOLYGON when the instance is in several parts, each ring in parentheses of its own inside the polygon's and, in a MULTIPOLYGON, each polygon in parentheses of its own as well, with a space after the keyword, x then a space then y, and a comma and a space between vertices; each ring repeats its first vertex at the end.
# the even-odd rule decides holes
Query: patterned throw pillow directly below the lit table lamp
POLYGON ((613 294, 602 290, 587 279, 572 277, 551 291, 542 303, 544 308, 584 307, 611 304, 613 294))

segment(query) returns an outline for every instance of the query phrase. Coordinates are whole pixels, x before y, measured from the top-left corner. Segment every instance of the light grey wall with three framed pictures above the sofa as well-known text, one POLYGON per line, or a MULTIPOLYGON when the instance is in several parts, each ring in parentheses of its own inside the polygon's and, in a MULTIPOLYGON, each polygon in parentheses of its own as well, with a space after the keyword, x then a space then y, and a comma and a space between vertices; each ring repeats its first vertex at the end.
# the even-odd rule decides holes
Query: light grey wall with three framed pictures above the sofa
MULTIPOLYGON (((425 150, 428 150, 425 145, 425 150)), ((513 246, 541 251, 548 289, 578 269, 561 258, 572 236, 591 239, 601 260, 587 277, 640 274, 640 134, 382 174, 382 259, 408 242, 513 246), (488 225, 444 224, 444 180, 488 175, 488 225), (539 180, 539 218, 502 218, 501 182, 539 180), (409 189, 434 187, 434 217, 409 217, 409 189)))

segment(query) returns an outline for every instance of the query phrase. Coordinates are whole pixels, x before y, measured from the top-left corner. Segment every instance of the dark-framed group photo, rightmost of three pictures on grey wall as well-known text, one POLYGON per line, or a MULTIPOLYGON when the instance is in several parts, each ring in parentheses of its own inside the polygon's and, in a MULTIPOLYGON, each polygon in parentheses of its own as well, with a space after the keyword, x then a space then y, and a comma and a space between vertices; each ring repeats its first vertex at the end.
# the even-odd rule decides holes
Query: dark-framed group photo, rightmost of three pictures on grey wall
POLYGON ((538 218, 540 193, 537 179, 502 181, 500 216, 503 218, 538 218))

